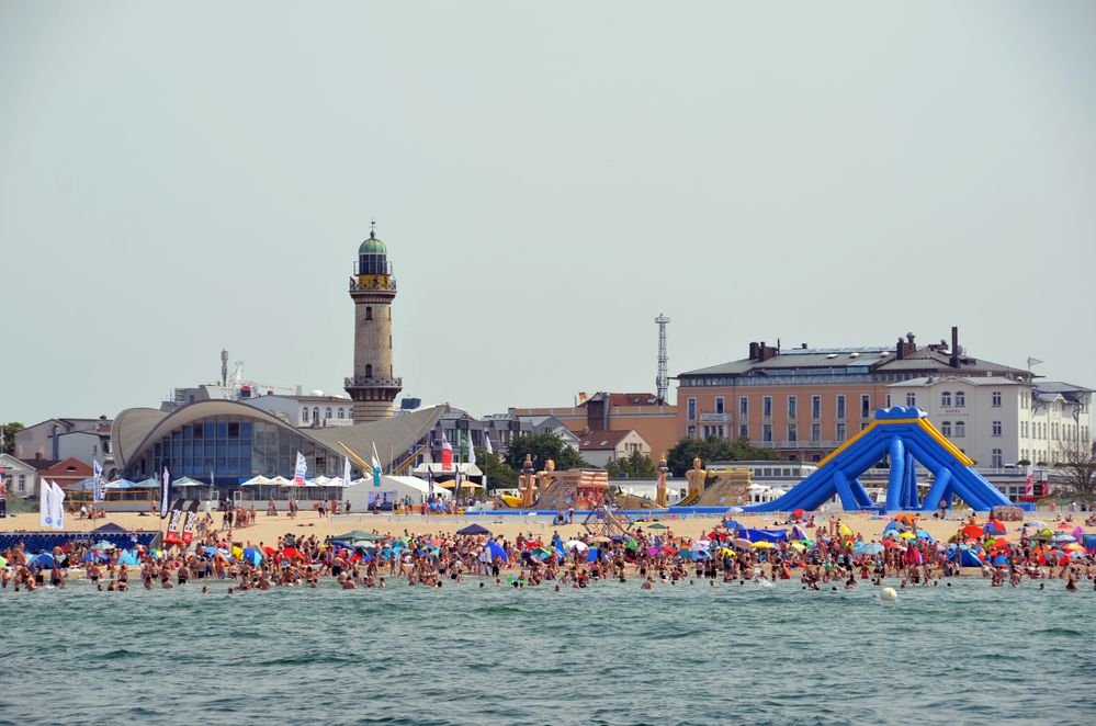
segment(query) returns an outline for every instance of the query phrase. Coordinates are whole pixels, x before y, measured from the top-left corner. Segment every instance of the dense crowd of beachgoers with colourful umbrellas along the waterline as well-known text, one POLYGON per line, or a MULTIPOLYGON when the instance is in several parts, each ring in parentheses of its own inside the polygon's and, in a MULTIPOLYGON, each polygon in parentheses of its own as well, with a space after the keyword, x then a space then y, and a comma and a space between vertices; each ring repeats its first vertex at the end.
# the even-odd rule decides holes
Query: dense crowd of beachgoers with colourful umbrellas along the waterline
POLYGON ((434 588, 465 578, 477 578, 481 587, 504 587, 505 578, 505 586, 515 588, 551 583, 556 589, 583 589, 598 581, 637 578, 643 589, 653 589, 704 580, 714 586, 798 577, 803 589, 820 590, 892 581, 900 588, 936 587, 973 571, 994 587, 1018 587, 1027 579, 1044 588, 1050 580, 1064 580, 1066 589, 1076 590, 1078 581, 1091 580, 1096 590, 1092 552, 1055 541, 1055 536, 1075 537, 1037 536, 1050 530, 1021 528, 1019 538, 1008 542, 995 534, 991 522, 983 529, 973 520, 961 523, 947 544, 909 534, 916 531, 912 520, 895 522, 881 542, 866 542, 840 519, 815 522, 809 518, 782 523, 791 525, 790 532, 747 530, 724 520, 697 540, 675 536, 666 525, 641 523, 612 537, 569 541, 558 532, 544 540, 532 534, 506 540, 489 534, 413 535, 405 531, 402 536, 376 534, 371 542, 286 534, 272 543, 237 542, 231 526, 239 521, 228 510, 224 529, 214 530, 212 517, 205 514, 193 545, 187 548, 112 549, 88 542, 68 543, 49 553, 48 566, 41 564, 41 555, 30 556, 15 546, 3 553, 0 586, 16 591, 46 585, 65 588, 69 577, 83 576, 104 591, 128 590, 133 579, 145 589, 201 583, 205 592, 210 583, 226 581, 229 592, 237 592, 316 588, 325 578, 348 590, 383 588, 386 578, 434 588), (750 541, 750 533, 786 536, 776 542, 750 541), (962 549, 982 555, 981 567, 964 568, 959 556, 962 549))

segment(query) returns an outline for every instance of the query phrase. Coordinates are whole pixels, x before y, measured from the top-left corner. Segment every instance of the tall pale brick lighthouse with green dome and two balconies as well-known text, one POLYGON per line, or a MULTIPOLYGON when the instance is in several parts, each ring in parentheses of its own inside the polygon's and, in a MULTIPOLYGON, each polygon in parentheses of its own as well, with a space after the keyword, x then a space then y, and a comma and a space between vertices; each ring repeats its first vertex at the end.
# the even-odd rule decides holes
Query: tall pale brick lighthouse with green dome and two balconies
POLYGON ((396 280, 388 250, 376 237, 376 223, 358 248, 350 297, 354 300, 354 375, 346 379, 346 389, 354 401, 354 423, 392 418, 393 401, 403 388, 403 381, 392 372, 396 280))

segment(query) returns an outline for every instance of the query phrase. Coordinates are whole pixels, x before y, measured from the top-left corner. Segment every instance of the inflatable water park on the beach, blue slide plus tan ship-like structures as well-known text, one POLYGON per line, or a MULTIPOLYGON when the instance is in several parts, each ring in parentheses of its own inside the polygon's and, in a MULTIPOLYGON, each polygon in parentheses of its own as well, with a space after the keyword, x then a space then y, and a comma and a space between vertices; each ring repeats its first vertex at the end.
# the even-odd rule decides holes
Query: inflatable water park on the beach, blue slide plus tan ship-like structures
MULTIPOLYGON (((655 501, 625 501, 618 514, 666 514, 726 512, 813 511, 836 498, 845 511, 937 511, 960 499, 975 511, 1016 507, 983 477, 958 446, 915 407, 880 408, 862 431, 818 463, 817 469, 787 494, 772 501, 746 504, 749 485, 745 469, 705 472, 700 461, 686 474, 688 492, 680 502, 667 506, 665 462, 659 462, 658 494, 655 501), (860 477, 880 462, 889 463, 885 502, 872 501, 860 477), (917 465, 931 475, 927 494, 920 496, 917 465), (639 503, 639 507, 635 504, 639 503)), ((560 510, 603 509, 609 481, 603 473, 590 469, 555 472, 552 462, 544 472, 532 472, 527 461, 520 496, 506 497, 510 509, 491 513, 545 513, 560 510)), ((1025 506, 1020 506, 1021 508, 1025 506)), ((1027 504, 1030 509, 1031 506, 1027 504)))

